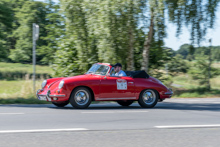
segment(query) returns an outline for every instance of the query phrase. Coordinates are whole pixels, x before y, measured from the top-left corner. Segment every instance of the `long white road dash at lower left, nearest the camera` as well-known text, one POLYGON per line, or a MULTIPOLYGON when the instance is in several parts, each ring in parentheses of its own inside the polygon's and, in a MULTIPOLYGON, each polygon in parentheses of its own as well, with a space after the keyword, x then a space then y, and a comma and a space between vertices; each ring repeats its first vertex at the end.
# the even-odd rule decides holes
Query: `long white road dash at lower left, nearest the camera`
POLYGON ((63 131, 86 131, 86 128, 67 129, 34 129, 34 130, 0 130, 0 133, 35 133, 35 132, 63 132, 63 131))

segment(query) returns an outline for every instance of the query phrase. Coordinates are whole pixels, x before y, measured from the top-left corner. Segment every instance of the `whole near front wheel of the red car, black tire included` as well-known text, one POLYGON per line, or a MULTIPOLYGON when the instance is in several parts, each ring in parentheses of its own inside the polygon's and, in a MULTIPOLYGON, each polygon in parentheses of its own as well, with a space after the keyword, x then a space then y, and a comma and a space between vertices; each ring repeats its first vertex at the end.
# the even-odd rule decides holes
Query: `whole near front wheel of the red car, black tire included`
POLYGON ((70 96, 70 104, 77 109, 85 109, 89 107, 92 102, 92 94, 89 89, 85 87, 78 87, 74 89, 70 96))

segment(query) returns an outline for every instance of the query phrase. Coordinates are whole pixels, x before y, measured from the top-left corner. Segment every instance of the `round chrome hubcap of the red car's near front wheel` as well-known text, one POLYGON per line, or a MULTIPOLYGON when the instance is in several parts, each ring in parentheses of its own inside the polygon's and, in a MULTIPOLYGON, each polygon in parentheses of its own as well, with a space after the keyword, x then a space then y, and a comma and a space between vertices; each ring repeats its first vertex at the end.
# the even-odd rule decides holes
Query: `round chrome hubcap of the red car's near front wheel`
POLYGON ((85 105, 89 101, 89 94, 85 90, 79 90, 75 94, 75 102, 78 105, 85 105))

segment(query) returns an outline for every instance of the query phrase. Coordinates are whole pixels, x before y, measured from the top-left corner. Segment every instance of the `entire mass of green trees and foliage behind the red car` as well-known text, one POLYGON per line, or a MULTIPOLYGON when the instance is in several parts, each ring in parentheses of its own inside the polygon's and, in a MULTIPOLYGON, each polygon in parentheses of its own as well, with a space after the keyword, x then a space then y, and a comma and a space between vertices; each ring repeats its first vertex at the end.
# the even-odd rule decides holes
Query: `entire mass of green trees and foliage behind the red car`
MULTIPOLYGON (((169 63, 170 71, 186 72, 186 64, 173 56, 182 54, 184 59, 194 60, 206 48, 183 45, 176 53, 166 48, 166 16, 178 26, 177 35, 186 25, 191 28, 192 44, 199 44, 214 25, 218 3, 60 0, 57 4, 52 0, 1 0, 0 61, 31 63, 32 23, 37 23, 37 64, 51 65, 56 76, 84 73, 96 62, 120 62, 126 70, 160 69, 169 63)), ((212 52, 213 60, 219 60, 218 47, 212 52)))

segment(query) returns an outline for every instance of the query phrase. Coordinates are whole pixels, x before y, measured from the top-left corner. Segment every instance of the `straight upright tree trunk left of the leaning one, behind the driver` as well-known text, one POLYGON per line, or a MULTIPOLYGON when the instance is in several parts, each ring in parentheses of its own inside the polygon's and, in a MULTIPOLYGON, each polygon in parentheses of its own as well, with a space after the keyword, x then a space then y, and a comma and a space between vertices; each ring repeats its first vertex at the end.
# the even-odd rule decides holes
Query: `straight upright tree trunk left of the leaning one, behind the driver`
POLYGON ((129 49, 127 58, 127 70, 134 70, 134 34, 132 28, 129 30, 129 49))

